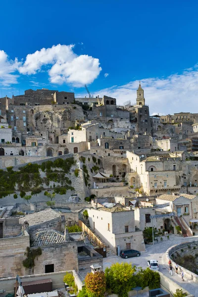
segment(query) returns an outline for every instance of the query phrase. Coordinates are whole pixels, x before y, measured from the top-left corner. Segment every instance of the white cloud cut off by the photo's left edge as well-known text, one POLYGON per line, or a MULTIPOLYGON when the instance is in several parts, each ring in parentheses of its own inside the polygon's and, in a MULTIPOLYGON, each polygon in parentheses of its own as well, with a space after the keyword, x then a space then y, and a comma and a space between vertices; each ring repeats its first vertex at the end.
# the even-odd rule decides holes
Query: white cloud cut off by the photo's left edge
POLYGON ((17 58, 15 60, 9 60, 8 55, 4 50, 0 50, 0 84, 3 86, 9 86, 11 84, 17 84, 18 75, 13 74, 17 71, 20 63, 17 58))

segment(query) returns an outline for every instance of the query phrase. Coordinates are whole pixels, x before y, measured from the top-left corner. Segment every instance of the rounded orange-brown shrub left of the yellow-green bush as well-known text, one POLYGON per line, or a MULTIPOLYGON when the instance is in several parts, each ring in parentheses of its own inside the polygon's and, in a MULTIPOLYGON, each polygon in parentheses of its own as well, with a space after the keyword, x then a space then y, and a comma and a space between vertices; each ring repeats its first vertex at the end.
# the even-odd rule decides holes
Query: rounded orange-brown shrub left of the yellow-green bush
POLYGON ((106 278, 104 272, 88 273, 85 277, 88 297, 103 297, 106 292, 106 278))

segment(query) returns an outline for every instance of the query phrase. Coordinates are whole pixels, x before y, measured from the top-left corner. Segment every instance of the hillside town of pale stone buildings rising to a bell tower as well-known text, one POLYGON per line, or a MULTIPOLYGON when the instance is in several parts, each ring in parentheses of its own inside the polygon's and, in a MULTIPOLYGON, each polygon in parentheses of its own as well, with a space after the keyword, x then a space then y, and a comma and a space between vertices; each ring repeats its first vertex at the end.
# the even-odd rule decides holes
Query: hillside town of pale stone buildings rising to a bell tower
POLYGON ((48 89, 0 98, 0 296, 22 283, 28 297, 90 297, 90 273, 108 282, 126 263, 160 275, 129 296, 198 296, 198 113, 150 115, 146 102, 141 82, 123 105, 48 89))

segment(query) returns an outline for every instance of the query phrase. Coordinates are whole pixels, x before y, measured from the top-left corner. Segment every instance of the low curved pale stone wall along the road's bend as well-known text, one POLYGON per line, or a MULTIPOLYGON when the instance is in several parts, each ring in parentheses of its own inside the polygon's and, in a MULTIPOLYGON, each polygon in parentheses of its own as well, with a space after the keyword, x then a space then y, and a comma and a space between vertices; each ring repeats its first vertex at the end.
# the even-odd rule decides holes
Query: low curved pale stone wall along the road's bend
MULTIPOLYGON (((173 267, 176 265, 176 262, 174 262, 171 258, 171 255, 175 252, 175 251, 178 251, 182 248, 186 248, 188 246, 191 246, 191 247, 197 247, 198 245, 198 240, 194 240, 194 241, 187 241, 187 242, 184 242, 184 243, 181 243, 179 245, 175 245, 175 246, 172 246, 172 247, 169 247, 166 251, 166 259, 167 259, 167 264, 168 264, 168 261, 171 260, 172 264, 173 264, 173 267)), ((182 270, 184 271, 184 278, 190 278, 191 280, 193 280, 194 282, 198 283, 198 275, 191 272, 190 270, 182 267, 181 265, 179 265, 182 270)))

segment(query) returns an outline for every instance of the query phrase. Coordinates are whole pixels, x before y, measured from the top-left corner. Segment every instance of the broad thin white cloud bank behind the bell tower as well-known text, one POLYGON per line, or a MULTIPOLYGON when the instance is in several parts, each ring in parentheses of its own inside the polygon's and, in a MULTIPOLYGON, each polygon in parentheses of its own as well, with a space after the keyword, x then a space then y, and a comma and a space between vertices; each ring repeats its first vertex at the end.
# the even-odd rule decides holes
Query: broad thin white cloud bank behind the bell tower
MULTIPOLYGON (((146 104, 150 114, 173 114, 174 112, 198 112, 198 66, 185 69, 181 74, 166 78, 146 78, 141 80, 145 91, 146 104)), ((97 91, 95 95, 107 95, 117 99, 117 104, 128 100, 136 102, 139 81, 131 81, 122 86, 112 86, 97 91)))

